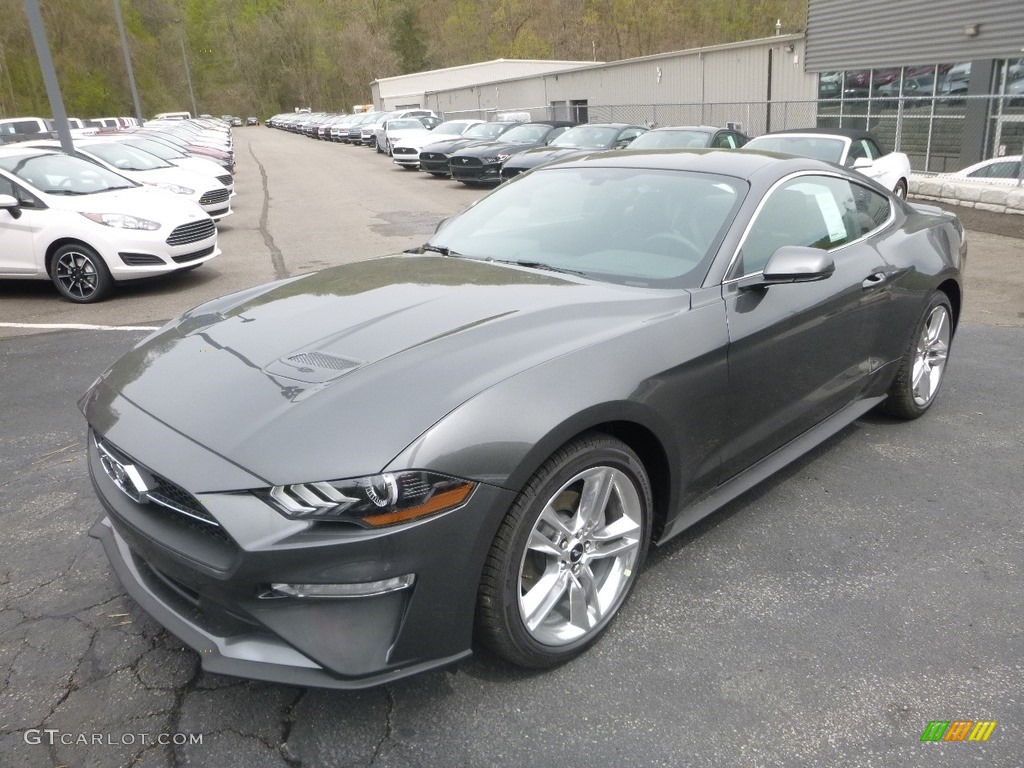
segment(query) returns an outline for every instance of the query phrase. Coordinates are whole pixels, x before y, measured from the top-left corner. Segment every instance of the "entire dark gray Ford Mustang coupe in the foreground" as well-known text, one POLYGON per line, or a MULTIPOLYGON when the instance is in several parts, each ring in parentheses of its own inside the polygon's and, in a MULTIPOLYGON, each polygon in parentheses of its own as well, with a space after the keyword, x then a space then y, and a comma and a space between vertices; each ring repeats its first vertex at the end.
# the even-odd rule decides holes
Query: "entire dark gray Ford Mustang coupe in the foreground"
POLYGON ((660 544, 934 402, 964 231, 746 151, 538 168, 415 252, 197 307, 81 400, 128 593, 212 672, 357 688, 598 639, 660 544))

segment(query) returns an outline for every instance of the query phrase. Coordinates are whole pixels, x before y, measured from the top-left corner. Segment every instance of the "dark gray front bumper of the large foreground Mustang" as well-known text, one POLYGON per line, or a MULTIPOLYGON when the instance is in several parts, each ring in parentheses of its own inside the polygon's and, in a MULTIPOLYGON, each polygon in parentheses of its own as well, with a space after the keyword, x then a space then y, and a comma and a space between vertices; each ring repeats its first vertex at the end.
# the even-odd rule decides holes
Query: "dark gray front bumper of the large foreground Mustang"
MULTIPOLYGON (((146 419, 146 427, 155 425, 146 419)), ((163 430, 160 425, 152 437, 159 439, 163 430)), ((119 431, 115 426, 111 434, 127 437, 119 431)), ((216 472, 223 462, 212 454, 203 460, 208 476, 210 463, 216 472)), ((483 559, 512 501, 510 492, 479 485, 449 513, 362 530, 310 526, 250 494, 199 494, 170 478, 202 500, 220 524, 214 535, 166 507, 130 499, 103 470, 91 436, 89 473, 106 513, 90 536, 102 543, 131 597, 197 650, 205 670, 327 688, 379 685, 471 653, 483 559), (368 597, 269 597, 267 589, 272 583, 365 584, 408 573, 415 574, 412 587, 368 597)), ((236 481, 232 476, 229 484, 236 481)))

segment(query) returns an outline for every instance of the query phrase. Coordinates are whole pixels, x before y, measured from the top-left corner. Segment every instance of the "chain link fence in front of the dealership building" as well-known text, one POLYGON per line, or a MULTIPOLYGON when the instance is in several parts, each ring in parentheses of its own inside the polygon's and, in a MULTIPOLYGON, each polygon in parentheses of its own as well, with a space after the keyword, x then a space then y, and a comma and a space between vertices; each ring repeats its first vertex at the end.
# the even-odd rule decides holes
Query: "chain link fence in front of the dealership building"
POLYGON ((920 173, 947 173, 981 158, 1024 151, 1024 95, 843 98, 679 104, 570 102, 508 110, 446 112, 445 120, 495 120, 528 113, 530 120, 581 123, 739 125, 750 136, 791 128, 858 128, 878 135, 885 150, 902 152, 920 173), (971 160, 970 158, 974 158, 971 160))

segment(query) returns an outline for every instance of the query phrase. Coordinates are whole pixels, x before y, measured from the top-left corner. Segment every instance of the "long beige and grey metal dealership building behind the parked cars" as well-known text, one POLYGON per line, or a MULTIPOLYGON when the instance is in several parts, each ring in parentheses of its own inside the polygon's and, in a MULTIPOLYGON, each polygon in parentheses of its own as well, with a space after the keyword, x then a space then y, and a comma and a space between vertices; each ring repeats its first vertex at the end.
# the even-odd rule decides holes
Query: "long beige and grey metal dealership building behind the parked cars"
POLYGON ((809 0, 806 31, 621 61, 488 61, 373 83, 445 117, 867 128, 915 170, 1024 145, 1021 0, 809 0))

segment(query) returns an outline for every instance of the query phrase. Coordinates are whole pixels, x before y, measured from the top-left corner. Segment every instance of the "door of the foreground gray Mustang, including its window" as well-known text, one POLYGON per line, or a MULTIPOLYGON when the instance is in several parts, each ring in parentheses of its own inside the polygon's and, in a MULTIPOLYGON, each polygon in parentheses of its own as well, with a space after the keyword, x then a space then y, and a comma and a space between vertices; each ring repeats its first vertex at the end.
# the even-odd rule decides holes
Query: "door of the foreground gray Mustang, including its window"
POLYGON ((874 354, 893 268, 869 242, 859 185, 825 174, 784 179, 748 227, 723 298, 729 324, 729 438, 723 478, 742 471, 857 398, 874 354), (744 288, 776 249, 825 250, 835 272, 744 288))

